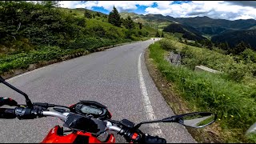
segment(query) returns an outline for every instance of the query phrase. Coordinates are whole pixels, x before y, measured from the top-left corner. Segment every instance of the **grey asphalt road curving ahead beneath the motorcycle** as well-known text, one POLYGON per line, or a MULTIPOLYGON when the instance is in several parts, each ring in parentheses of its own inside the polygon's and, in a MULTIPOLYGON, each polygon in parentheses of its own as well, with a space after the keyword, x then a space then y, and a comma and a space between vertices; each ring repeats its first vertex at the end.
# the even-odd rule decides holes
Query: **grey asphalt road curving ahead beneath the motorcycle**
MULTIPOLYGON (((107 106, 113 119, 126 118, 135 123, 170 117, 174 113, 154 85, 144 62, 144 50, 153 42, 136 42, 55 63, 7 82, 26 92, 32 102, 70 106, 79 100, 93 100, 107 106)), ((2 84, 0 96, 25 103, 22 95, 2 84)), ((62 124, 58 118, 50 117, 1 119, 0 142, 41 142, 53 126, 62 124)), ((160 134, 167 142, 195 142, 185 127, 177 123, 150 124, 141 130, 160 134)), ((116 142, 125 141, 118 136, 116 142)))

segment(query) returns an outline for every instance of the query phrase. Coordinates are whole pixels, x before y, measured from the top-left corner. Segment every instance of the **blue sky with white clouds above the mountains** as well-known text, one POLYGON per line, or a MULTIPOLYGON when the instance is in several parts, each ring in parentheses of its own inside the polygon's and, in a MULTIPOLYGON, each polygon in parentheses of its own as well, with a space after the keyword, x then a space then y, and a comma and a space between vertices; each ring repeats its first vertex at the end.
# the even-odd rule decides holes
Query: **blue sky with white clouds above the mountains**
POLYGON ((174 18, 203 17, 227 20, 256 19, 256 1, 61 1, 61 7, 86 8, 109 14, 119 12, 162 14, 174 18))

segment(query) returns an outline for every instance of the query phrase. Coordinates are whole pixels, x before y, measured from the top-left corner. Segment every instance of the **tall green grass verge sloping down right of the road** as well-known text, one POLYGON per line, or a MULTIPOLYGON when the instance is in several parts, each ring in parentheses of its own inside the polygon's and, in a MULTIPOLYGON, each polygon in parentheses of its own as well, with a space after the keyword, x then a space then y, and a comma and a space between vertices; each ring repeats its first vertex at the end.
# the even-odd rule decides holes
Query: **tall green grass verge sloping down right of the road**
POLYGON ((165 96, 176 114, 181 111, 210 111, 218 114, 218 121, 213 125, 201 130, 190 130, 197 131, 197 134, 192 133, 195 139, 199 142, 207 142, 203 137, 213 142, 216 142, 214 138, 218 139, 217 142, 256 142, 244 135, 256 121, 256 102, 252 98, 254 89, 223 78, 220 74, 197 72, 186 66, 171 66, 164 59, 167 51, 162 49, 159 42, 150 45, 149 50, 149 57, 166 82, 170 83, 173 97, 178 99, 173 102, 168 94, 165 96), (182 106, 177 106, 179 103, 176 102, 182 103, 182 106))

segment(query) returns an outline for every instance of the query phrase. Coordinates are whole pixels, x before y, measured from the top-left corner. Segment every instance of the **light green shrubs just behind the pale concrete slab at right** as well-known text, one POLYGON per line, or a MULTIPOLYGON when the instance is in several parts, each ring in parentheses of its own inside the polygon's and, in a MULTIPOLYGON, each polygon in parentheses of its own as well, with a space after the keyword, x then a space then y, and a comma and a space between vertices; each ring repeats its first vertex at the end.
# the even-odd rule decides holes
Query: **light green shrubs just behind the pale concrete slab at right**
POLYGON ((181 51, 182 64, 194 70, 195 66, 208 66, 214 70, 224 72, 228 78, 235 82, 241 82, 246 75, 252 75, 253 70, 245 62, 230 55, 220 54, 214 50, 186 46, 181 51))

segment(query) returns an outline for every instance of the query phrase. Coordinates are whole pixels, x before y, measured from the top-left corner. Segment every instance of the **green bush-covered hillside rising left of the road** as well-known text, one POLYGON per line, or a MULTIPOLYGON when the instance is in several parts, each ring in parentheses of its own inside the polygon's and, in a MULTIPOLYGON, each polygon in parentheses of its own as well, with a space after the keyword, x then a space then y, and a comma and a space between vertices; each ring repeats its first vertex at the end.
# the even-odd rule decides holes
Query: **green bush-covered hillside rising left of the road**
POLYGON ((52 2, 0 2, 0 74, 156 33, 149 26, 140 30, 138 23, 132 29, 114 26, 106 14, 58 8, 52 2))

